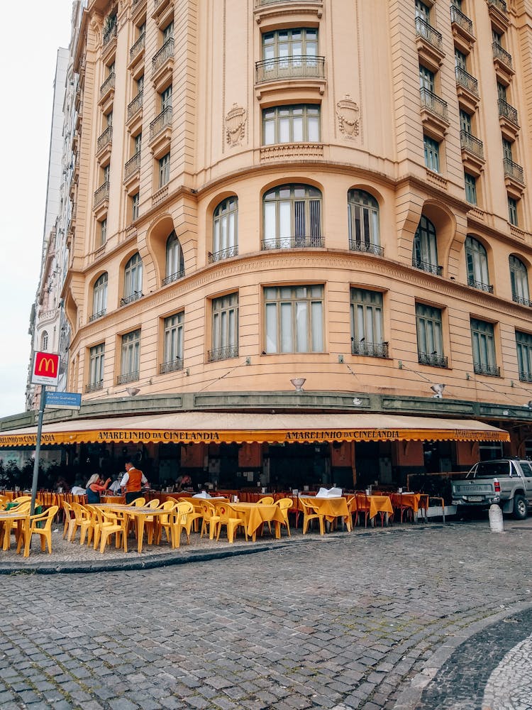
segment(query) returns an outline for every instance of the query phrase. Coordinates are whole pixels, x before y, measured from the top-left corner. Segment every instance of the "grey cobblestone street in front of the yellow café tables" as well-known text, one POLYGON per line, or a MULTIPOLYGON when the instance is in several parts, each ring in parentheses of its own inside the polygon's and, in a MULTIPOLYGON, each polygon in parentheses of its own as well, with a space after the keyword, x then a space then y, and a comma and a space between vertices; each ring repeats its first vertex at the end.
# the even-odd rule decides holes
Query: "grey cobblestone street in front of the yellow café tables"
POLYGON ((527 710, 531 540, 483 520, 150 569, 24 563, 0 576, 0 707, 527 710))

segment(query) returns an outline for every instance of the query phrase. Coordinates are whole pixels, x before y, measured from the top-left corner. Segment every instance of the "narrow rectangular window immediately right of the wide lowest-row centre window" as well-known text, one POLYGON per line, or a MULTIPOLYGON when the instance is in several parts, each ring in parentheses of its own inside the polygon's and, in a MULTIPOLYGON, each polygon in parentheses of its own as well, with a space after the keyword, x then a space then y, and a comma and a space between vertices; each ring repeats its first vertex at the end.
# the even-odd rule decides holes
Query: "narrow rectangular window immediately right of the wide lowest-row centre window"
POLYGON ((382 293, 351 288, 351 352, 353 355, 388 357, 388 344, 382 342, 382 293))

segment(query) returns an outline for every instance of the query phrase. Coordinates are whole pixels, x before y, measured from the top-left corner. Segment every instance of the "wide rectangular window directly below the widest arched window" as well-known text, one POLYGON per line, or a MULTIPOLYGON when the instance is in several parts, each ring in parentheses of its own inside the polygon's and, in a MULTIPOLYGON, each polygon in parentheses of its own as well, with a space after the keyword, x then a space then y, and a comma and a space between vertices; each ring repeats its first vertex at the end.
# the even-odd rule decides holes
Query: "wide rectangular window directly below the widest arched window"
POLYGON ((270 353, 323 352, 323 286, 264 289, 266 343, 270 353))

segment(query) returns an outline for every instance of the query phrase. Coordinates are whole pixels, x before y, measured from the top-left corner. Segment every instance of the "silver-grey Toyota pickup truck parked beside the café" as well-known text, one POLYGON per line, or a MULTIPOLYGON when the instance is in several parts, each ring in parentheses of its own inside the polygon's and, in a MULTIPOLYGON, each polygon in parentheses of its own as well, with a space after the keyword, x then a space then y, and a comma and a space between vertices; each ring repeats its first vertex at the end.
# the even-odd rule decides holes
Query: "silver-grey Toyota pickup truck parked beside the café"
POLYGON ((453 505, 489 508, 497 503, 503 513, 524 520, 532 506, 532 461, 494 459, 479 461, 463 479, 451 482, 453 505))

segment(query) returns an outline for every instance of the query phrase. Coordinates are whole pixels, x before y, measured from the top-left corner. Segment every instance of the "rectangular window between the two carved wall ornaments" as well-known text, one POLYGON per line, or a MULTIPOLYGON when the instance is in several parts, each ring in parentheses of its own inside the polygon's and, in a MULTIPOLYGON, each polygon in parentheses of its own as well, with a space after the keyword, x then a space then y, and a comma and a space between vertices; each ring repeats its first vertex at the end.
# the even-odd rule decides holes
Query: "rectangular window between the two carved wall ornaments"
POLYGON ((262 111, 262 144, 318 143, 320 107, 314 104, 277 106, 262 111))

